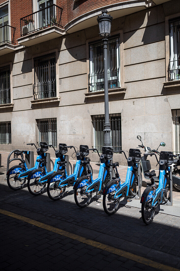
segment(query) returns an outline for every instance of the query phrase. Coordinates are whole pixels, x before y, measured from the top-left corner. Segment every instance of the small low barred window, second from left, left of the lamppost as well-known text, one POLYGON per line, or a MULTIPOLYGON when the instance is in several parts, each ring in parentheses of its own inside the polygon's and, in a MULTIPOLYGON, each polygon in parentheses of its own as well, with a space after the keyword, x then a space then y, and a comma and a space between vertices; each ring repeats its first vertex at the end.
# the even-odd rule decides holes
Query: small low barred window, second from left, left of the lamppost
POLYGON ((57 119, 49 118, 36 121, 39 130, 39 142, 57 146, 57 119))

